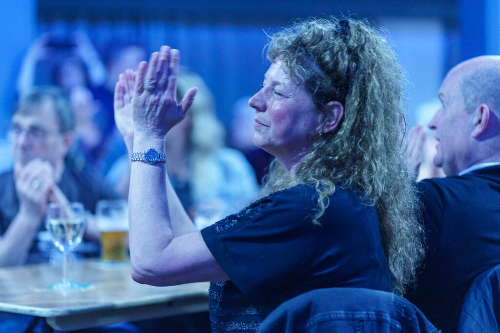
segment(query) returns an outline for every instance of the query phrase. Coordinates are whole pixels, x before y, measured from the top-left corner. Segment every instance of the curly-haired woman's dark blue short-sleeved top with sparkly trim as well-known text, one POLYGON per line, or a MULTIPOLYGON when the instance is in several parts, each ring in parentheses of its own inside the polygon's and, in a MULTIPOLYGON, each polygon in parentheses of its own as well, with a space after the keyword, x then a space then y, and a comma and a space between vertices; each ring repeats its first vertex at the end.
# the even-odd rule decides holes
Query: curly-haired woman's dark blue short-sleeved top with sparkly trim
POLYGON ((373 207, 337 188, 314 226, 312 185, 272 193, 201 230, 230 278, 210 285, 212 330, 254 331, 280 303, 328 287, 391 291, 373 207))

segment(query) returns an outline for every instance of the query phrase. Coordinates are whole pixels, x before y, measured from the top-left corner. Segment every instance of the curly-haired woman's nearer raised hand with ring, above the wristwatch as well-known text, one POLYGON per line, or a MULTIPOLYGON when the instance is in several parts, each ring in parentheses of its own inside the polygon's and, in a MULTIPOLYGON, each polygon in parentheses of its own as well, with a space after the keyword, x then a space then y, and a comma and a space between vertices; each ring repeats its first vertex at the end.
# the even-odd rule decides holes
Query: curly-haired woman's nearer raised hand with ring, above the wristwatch
POLYGON ((139 63, 132 96, 134 135, 164 137, 184 119, 197 88, 187 90, 177 104, 179 60, 178 50, 161 46, 159 52, 151 54, 149 63, 139 63))

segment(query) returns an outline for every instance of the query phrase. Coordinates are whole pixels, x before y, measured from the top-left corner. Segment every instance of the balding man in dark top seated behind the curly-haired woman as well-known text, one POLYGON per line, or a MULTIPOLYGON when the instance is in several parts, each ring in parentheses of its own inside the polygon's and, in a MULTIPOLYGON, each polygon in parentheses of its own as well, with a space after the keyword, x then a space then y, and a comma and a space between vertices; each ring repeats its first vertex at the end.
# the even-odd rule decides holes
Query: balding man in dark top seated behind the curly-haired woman
MULTIPOLYGON (((438 98, 428 127, 438 142, 433 162, 447 177, 417 183, 427 252, 407 298, 446 333, 456 332, 474 278, 500 264, 500 56, 456 65, 438 98)), ((413 129, 409 146, 422 133, 413 129)))

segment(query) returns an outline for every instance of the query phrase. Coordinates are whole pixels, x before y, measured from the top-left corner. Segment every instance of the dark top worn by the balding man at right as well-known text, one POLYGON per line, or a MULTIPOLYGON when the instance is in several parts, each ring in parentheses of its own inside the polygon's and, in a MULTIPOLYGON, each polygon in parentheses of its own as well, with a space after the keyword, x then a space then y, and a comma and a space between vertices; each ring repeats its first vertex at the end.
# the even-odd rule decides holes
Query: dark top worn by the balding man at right
POLYGON ((500 264, 500 166, 417 185, 427 251, 417 289, 407 298, 436 328, 455 333, 470 284, 500 264))

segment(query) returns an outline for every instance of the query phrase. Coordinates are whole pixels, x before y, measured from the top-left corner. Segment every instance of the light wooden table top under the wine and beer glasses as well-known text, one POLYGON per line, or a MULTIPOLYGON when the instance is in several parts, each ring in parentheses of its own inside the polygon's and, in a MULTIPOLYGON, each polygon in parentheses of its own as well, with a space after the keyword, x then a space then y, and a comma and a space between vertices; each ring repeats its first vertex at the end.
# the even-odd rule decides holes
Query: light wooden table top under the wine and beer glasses
POLYGON ((48 264, 0 268, 0 311, 45 317, 54 329, 77 330, 208 310, 208 283, 140 285, 131 279, 129 263, 80 260, 69 268, 70 280, 90 286, 45 290, 61 279, 61 268, 48 264))

